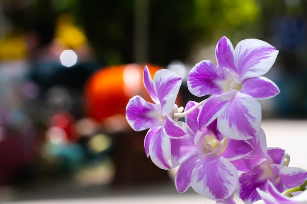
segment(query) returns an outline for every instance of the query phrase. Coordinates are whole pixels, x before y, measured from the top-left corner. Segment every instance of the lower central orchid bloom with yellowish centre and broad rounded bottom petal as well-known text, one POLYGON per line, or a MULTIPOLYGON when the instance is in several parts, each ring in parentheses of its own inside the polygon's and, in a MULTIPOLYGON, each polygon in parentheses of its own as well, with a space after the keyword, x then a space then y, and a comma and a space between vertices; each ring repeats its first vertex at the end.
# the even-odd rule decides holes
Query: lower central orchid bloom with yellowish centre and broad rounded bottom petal
MULTIPOLYGON (((185 111, 197 105, 190 101, 185 111)), ((181 126, 185 136, 171 138, 173 160, 180 164, 176 188, 183 193, 191 186, 206 198, 229 199, 238 183, 238 171, 230 160, 243 157, 253 149, 246 141, 225 138, 218 131, 216 120, 199 130, 198 112, 196 109, 186 116, 186 123, 181 126)))

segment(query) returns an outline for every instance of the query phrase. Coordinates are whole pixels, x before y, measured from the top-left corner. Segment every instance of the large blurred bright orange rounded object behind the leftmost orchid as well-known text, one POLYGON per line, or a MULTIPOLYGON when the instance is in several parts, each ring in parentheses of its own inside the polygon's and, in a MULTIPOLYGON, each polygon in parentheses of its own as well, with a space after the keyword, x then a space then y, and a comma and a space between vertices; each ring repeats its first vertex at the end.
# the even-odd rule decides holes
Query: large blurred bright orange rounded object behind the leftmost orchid
MULTIPOLYGON (((125 118, 127 103, 134 95, 151 101, 143 85, 144 67, 137 64, 116 65, 95 72, 85 86, 87 115, 109 125, 112 122, 110 117, 125 118)), ((152 77, 161 69, 154 65, 148 65, 148 68, 152 77)))

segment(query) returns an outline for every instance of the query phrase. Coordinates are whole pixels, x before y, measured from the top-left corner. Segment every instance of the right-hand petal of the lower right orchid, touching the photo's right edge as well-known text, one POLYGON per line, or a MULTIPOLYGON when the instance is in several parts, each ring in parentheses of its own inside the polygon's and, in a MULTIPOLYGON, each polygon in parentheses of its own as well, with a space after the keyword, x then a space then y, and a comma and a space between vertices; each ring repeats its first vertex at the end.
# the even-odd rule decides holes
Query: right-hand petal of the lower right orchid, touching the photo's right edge
POLYGON ((273 171, 280 177, 285 189, 302 185, 307 180, 307 171, 297 167, 270 164, 273 171))

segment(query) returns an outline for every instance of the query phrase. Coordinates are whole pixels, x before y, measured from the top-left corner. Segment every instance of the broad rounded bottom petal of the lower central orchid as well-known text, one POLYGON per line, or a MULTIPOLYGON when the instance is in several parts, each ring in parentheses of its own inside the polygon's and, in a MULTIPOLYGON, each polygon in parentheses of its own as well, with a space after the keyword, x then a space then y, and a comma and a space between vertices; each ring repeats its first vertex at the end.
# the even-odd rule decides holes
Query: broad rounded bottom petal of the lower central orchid
POLYGON ((219 200, 230 197, 237 187, 238 172, 223 157, 205 157, 196 165, 191 186, 200 195, 219 200))

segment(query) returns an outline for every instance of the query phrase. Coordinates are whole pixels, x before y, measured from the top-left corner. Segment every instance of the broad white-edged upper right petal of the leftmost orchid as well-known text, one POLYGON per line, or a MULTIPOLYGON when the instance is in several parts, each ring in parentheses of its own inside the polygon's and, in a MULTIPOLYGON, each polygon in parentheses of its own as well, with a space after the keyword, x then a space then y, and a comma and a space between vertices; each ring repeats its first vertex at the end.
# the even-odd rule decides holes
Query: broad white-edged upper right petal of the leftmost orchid
POLYGON ((164 115, 173 111, 174 104, 181 86, 178 74, 168 69, 160 69, 153 77, 153 87, 161 104, 164 115))

